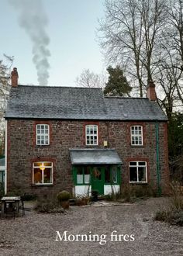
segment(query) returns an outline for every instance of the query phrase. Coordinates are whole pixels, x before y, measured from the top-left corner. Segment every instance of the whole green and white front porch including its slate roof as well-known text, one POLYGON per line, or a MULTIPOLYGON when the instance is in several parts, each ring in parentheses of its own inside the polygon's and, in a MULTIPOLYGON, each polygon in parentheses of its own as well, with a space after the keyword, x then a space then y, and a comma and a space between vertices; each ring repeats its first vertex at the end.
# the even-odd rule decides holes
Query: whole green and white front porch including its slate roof
POLYGON ((98 195, 118 192, 121 184, 121 164, 116 150, 70 150, 75 195, 98 195))

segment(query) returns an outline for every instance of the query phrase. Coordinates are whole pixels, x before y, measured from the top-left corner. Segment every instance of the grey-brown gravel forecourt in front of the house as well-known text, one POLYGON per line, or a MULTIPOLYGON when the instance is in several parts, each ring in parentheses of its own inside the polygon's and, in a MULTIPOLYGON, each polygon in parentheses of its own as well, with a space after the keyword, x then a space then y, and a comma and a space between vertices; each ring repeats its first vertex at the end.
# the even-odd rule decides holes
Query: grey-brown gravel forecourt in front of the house
POLYGON ((167 201, 159 198, 132 205, 72 206, 66 214, 31 211, 16 220, 0 220, 0 255, 183 255, 183 228, 153 221, 154 213, 167 201), (67 241, 64 236, 60 241, 56 231, 60 238, 67 231, 67 241), (112 231, 117 234, 113 241, 112 231), (77 234, 95 241, 81 241, 79 236, 76 241, 77 234))

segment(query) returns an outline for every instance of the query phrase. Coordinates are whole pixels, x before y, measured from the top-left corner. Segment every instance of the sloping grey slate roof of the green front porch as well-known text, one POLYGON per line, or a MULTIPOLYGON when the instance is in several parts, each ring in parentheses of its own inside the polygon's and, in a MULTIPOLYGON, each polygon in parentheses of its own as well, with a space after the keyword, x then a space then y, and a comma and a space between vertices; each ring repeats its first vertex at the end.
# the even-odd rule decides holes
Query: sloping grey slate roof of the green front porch
POLYGON ((71 164, 122 164, 115 149, 70 149, 71 164))

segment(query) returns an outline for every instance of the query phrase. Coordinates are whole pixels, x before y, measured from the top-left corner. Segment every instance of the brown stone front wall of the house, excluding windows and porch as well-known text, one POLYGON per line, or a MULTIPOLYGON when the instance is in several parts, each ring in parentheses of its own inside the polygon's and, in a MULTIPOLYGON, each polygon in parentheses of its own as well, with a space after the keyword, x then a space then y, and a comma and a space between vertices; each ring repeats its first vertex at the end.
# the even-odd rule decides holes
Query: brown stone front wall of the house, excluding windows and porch
MULTIPOLYGON (((50 194, 66 189, 72 192, 73 181, 69 148, 84 148, 85 124, 98 124, 98 147, 104 140, 108 147, 116 148, 123 161, 122 185, 129 183, 129 161, 147 161, 148 183, 157 189, 157 141, 155 122, 85 122, 68 120, 8 120, 8 192, 21 189, 33 194, 50 194), (50 145, 36 146, 36 124, 50 124, 50 145), (130 126, 143 126, 143 147, 130 143, 130 126), (54 163, 54 185, 33 185, 33 162, 54 163)), ((161 188, 168 190, 167 123, 158 123, 159 163, 161 188)))

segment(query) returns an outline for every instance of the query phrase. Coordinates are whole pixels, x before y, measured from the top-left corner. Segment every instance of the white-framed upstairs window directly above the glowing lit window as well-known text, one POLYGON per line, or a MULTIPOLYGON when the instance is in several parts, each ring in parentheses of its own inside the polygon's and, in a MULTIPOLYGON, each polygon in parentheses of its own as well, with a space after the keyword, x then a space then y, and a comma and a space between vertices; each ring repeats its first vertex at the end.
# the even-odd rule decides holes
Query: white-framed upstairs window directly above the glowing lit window
POLYGON ((36 145, 49 145, 50 144, 50 127, 48 124, 36 125, 36 145))

